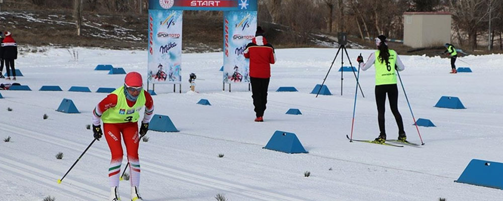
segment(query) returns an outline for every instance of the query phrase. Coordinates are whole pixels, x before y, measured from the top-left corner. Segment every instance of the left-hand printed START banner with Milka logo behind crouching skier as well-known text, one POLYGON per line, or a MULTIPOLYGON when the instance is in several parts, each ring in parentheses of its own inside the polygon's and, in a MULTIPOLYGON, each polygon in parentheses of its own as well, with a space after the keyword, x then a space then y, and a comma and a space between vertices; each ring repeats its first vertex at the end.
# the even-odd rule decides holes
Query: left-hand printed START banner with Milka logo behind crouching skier
POLYGON ((182 83, 183 11, 148 10, 148 83, 182 83))

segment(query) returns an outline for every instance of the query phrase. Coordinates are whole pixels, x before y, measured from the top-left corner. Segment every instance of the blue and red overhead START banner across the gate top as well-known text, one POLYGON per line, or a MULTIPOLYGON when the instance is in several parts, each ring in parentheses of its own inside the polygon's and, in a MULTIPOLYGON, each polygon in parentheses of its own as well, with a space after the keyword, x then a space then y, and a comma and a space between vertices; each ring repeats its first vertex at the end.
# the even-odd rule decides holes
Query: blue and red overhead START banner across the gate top
POLYGON ((257 0, 149 0, 150 10, 257 11, 257 0))

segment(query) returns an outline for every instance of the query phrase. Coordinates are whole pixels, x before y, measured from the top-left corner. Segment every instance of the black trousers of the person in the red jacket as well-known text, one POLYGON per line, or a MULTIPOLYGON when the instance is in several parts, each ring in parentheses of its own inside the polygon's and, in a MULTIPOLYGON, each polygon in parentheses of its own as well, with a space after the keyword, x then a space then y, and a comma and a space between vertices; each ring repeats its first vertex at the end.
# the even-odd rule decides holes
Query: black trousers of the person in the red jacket
POLYGON ((266 111, 269 80, 270 78, 250 77, 251 97, 253 98, 253 105, 255 106, 255 114, 257 117, 263 117, 264 111, 266 111))

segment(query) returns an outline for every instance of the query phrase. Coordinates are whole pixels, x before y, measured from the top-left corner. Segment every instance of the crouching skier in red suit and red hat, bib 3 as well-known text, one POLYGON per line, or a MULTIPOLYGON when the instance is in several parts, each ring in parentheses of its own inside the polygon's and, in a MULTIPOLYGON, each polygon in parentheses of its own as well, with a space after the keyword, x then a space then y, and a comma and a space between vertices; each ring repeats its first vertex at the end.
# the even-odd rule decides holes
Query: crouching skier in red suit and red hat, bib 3
POLYGON ((143 200, 138 191, 140 184, 138 143, 139 139, 147 134, 148 123, 152 118, 153 110, 152 96, 143 90, 143 81, 140 73, 130 72, 124 79, 124 85, 101 100, 93 111, 94 137, 97 140, 102 137, 103 131, 100 124, 101 120, 103 120, 103 130, 106 134, 105 139, 112 152, 112 160, 108 169, 111 187, 110 201, 120 200, 118 186, 123 156, 121 138, 124 139, 127 159, 130 164, 131 200, 143 200), (145 114, 138 133, 137 122, 140 118, 139 111, 143 106, 145 106, 145 114))

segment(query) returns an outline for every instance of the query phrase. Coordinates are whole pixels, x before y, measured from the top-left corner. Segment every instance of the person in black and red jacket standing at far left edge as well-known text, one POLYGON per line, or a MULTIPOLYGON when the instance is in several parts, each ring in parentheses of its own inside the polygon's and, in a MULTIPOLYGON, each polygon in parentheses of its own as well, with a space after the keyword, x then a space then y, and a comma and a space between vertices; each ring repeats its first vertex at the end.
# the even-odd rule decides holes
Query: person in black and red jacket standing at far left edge
POLYGON ((0 48, 0 58, 3 58, 5 61, 5 67, 7 70, 7 79, 11 79, 11 71, 14 76, 13 80, 16 80, 16 69, 14 68, 14 60, 18 59, 18 46, 16 45, 16 41, 12 38, 11 32, 5 32, 5 38, 2 40, 2 44, 0 44, 2 48, 0 48))

